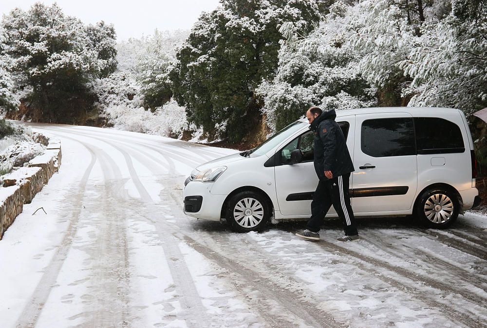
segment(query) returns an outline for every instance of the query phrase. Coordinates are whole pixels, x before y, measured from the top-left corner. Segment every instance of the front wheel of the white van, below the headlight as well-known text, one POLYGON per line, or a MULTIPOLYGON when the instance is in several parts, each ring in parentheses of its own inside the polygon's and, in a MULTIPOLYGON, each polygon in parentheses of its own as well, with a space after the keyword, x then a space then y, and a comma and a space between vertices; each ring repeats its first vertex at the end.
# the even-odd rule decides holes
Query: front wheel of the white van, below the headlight
POLYGON ((270 214, 269 204, 260 193, 241 191, 230 198, 225 219, 233 231, 259 231, 267 225, 270 214))

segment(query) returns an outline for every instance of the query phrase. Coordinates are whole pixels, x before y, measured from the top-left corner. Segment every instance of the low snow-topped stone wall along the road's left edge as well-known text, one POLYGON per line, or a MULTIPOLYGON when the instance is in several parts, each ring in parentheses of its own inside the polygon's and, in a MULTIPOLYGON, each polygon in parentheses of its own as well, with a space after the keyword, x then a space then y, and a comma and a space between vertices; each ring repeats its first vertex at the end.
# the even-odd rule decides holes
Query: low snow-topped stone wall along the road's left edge
POLYGON ((32 202, 61 165, 61 143, 36 133, 36 142, 47 145, 44 154, 34 157, 26 167, 1 176, 0 187, 0 240, 5 230, 22 212, 23 205, 32 202))

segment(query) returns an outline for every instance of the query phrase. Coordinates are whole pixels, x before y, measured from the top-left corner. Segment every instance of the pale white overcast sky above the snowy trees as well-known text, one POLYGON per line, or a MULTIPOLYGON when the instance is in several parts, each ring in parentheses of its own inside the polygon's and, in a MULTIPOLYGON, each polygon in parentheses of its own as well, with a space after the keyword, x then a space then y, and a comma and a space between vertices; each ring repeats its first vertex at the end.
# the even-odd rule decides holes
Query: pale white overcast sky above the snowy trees
POLYGON ((150 35, 156 28, 189 30, 202 11, 211 11, 219 4, 219 0, 0 0, 0 14, 16 7, 27 10, 35 2, 57 2, 65 14, 84 23, 113 23, 119 41, 150 35))

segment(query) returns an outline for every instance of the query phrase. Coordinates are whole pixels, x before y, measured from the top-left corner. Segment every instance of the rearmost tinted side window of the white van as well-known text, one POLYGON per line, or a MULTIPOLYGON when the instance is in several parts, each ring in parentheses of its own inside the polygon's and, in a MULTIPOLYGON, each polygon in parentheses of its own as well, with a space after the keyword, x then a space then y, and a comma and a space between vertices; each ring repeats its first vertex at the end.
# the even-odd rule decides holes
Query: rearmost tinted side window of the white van
POLYGON ((465 152, 462 132, 457 124, 435 117, 414 118, 418 154, 465 152))

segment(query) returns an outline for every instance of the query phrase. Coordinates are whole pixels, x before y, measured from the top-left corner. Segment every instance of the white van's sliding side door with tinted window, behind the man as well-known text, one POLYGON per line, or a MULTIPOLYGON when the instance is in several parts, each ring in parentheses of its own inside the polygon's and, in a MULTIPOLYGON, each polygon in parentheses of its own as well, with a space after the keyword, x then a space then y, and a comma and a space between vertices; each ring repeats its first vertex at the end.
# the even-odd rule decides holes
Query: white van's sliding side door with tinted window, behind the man
POLYGON ((408 113, 357 115, 354 166, 354 212, 411 209, 417 188, 412 116, 408 113))

